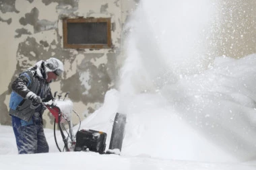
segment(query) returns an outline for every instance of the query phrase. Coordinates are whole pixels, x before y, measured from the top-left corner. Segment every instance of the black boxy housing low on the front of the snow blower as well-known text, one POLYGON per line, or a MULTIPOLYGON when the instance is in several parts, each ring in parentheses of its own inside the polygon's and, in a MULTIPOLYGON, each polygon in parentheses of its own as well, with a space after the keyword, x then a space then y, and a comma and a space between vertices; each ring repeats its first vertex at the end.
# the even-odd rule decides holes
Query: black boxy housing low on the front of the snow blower
POLYGON ((76 134, 75 151, 94 151, 103 154, 106 148, 106 133, 96 130, 79 130, 76 134))

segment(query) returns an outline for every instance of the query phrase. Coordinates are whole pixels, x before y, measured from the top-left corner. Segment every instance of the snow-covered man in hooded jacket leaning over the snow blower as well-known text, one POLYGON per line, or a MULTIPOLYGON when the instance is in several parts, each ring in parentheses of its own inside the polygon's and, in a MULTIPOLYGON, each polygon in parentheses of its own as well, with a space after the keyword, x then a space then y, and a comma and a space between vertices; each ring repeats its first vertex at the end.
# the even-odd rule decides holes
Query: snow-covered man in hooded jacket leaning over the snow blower
POLYGON ((60 60, 49 58, 36 62, 13 81, 9 114, 19 154, 49 152, 42 126, 42 102, 53 99, 49 83, 63 71, 60 60))

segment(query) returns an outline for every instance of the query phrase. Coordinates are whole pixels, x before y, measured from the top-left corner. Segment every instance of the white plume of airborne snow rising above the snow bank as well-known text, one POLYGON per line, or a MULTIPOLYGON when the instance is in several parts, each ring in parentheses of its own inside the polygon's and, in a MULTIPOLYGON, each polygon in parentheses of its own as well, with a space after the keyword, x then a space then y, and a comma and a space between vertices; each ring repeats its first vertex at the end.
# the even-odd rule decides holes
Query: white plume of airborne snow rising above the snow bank
POLYGON ((154 91, 207 68, 206 28, 213 22, 214 7, 203 0, 141 1, 126 26, 121 91, 154 91))

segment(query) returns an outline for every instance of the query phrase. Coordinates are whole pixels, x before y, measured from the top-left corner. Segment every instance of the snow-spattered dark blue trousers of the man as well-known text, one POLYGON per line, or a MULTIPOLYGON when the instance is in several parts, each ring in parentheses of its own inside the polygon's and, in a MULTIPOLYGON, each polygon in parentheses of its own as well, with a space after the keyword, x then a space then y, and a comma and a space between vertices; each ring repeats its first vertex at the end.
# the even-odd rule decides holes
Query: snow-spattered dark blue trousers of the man
POLYGON ((32 124, 22 126, 20 118, 11 117, 19 154, 49 153, 49 146, 44 136, 40 118, 33 116, 32 124))

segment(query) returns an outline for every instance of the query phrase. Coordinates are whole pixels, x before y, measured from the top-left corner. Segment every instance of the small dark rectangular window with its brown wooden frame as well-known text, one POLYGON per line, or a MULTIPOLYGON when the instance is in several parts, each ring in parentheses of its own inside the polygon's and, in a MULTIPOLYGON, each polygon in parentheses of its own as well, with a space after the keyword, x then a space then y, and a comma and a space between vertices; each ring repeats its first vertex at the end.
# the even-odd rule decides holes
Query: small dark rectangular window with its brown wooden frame
POLYGON ((64 48, 110 48, 110 18, 63 19, 64 48))

